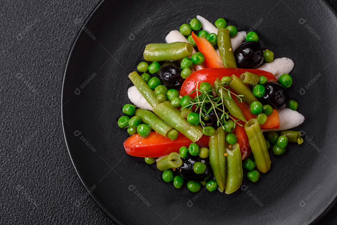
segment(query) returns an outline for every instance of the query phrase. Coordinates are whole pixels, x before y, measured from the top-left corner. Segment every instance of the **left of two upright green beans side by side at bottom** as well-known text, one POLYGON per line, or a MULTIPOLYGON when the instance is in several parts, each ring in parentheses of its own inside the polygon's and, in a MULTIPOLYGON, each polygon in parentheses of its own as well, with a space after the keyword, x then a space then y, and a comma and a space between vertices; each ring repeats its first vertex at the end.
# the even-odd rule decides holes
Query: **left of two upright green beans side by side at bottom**
POLYGON ((220 174, 220 166, 219 166, 219 158, 218 158, 218 133, 215 131, 215 134, 211 136, 209 141, 209 149, 210 149, 210 164, 213 171, 213 175, 215 177, 216 182, 218 183, 220 192, 225 190, 225 184, 222 182, 221 174, 220 174))

